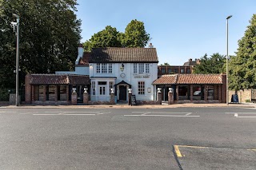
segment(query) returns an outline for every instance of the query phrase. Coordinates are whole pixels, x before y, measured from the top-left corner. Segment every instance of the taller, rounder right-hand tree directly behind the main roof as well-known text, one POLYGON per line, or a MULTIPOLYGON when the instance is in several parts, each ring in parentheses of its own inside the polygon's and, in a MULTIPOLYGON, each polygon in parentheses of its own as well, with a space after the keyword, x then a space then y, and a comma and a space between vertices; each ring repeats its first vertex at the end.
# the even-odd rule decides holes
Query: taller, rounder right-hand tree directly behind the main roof
POLYGON ((135 19, 126 26, 122 45, 126 47, 144 47, 149 40, 150 34, 146 33, 144 23, 135 19))

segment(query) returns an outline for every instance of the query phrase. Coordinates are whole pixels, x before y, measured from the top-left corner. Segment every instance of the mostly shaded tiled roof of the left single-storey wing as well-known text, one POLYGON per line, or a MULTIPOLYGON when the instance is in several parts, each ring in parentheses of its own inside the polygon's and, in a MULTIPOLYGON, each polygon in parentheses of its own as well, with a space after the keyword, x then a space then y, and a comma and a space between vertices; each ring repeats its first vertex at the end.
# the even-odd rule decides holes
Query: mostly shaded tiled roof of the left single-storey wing
POLYGON ((89 76, 72 74, 31 74, 31 85, 89 85, 89 76))

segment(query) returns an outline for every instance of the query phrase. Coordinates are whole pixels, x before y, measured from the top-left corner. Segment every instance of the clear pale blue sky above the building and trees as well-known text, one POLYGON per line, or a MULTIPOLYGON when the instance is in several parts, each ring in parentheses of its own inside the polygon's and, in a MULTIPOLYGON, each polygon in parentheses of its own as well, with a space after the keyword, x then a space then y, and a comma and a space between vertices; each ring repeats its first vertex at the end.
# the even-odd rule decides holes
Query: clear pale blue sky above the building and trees
POLYGON ((124 33, 134 19, 144 23, 160 64, 183 65, 206 53, 226 55, 226 18, 229 15, 229 55, 238 49, 256 0, 78 0, 86 42, 106 26, 124 33))

